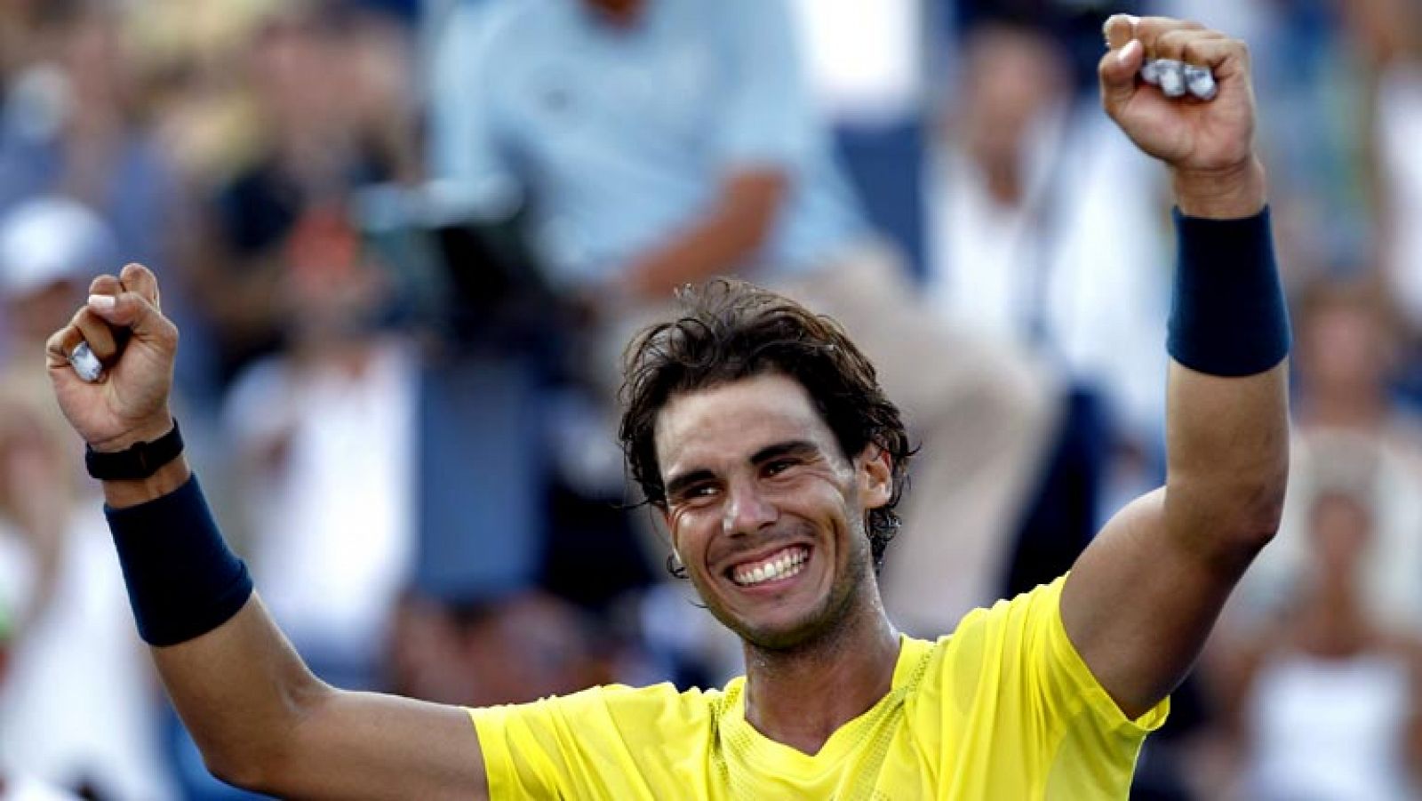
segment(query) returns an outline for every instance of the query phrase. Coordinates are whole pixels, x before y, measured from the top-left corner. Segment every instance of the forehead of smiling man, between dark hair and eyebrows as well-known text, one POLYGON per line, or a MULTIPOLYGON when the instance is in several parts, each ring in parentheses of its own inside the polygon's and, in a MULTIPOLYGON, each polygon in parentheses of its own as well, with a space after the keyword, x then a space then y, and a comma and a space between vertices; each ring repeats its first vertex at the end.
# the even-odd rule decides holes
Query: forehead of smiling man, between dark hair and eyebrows
POLYGON ((673 397, 657 415, 664 477, 715 470, 772 444, 809 441, 832 452, 833 434, 792 378, 768 374, 673 397))

